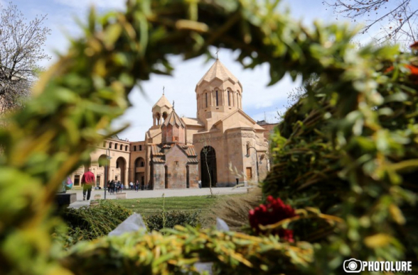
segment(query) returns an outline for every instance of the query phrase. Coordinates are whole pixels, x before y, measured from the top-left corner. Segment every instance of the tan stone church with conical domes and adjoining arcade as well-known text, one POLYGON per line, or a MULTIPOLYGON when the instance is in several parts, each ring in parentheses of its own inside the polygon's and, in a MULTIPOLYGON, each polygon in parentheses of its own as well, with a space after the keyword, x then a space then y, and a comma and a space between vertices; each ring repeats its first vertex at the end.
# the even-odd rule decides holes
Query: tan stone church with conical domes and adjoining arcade
POLYGON ((197 117, 180 118, 163 94, 152 107, 153 125, 145 140, 109 138, 90 155, 90 163, 71 176, 77 186, 91 169, 97 186, 107 179, 148 189, 235 186, 264 179, 269 169, 268 131, 242 111, 240 81, 216 60, 195 86, 197 117), (107 157, 107 155, 109 157, 107 157))

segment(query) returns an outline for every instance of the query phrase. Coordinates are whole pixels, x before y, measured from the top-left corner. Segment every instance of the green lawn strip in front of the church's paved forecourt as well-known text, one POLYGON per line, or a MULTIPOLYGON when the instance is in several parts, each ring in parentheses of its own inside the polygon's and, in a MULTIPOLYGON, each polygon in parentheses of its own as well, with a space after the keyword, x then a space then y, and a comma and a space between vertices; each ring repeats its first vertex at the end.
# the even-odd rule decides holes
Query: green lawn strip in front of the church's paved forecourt
MULTIPOLYGON (((217 205, 231 196, 242 196, 242 194, 225 196, 186 196, 166 197, 166 211, 190 211, 202 210, 200 217, 203 220, 203 227, 214 224, 213 212, 216 212, 217 205)), ((134 198, 127 200, 114 200, 115 203, 124 206, 136 213, 147 216, 159 213, 163 209, 163 198, 134 198)))

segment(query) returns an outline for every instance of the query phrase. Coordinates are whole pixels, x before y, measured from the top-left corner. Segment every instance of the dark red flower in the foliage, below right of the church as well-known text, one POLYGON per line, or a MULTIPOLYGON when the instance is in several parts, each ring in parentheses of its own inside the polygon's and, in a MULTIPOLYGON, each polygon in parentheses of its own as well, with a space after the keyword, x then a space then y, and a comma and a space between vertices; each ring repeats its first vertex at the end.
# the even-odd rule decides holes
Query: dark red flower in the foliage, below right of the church
MULTIPOLYGON (((272 225, 278 223, 280 220, 296 216, 294 209, 286 205, 280 198, 267 197, 267 204, 260 204, 258 207, 250 210, 249 219, 251 228, 257 232, 262 233, 259 225, 272 225)), ((275 229, 271 232, 274 235, 279 235, 283 240, 294 242, 293 230, 275 229)))

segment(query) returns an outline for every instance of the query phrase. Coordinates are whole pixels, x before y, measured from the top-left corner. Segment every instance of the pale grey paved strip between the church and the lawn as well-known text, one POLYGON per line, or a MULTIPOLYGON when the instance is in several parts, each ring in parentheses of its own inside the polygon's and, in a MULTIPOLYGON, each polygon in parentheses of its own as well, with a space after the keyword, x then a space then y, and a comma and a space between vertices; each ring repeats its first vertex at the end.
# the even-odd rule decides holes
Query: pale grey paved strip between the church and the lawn
MULTIPOLYGON (((236 193, 247 193, 247 187, 222 187, 222 188, 213 188, 212 189, 214 195, 231 195, 236 193)), ((92 190, 92 194, 90 196, 90 201, 83 201, 82 200, 82 189, 73 189, 67 191, 67 193, 76 193, 77 194, 77 201, 70 204, 70 208, 80 208, 82 206, 89 206, 90 201, 94 200, 96 194, 100 194, 101 198, 104 198, 104 190, 103 189, 95 189, 92 190)), ((162 189, 162 190, 139 190, 138 192, 134 190, 124 189, 122 193, 127 193, 127 199, 129 198, 161 198, 161 196, 166 197, 184 197, 184 196, 209 196, 210 189, 202 188, 202 189, 162 189)), ((116 195, 109 195, 106 191, 106 199, 114 200, 116 199, 116 195)))

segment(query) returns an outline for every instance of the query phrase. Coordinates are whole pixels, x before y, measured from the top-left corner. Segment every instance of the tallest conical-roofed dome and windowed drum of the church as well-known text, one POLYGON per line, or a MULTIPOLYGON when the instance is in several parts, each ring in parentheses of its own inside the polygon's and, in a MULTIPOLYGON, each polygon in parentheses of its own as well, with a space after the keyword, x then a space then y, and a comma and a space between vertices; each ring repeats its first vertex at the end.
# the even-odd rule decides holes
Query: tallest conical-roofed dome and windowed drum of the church
POLYGON ((242 85, 218 58, 196 84, 195 92, 198 119, 208 128, 229 113, 242 109, 242 85))

